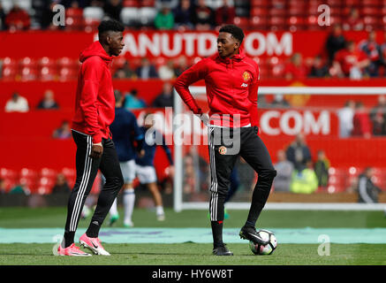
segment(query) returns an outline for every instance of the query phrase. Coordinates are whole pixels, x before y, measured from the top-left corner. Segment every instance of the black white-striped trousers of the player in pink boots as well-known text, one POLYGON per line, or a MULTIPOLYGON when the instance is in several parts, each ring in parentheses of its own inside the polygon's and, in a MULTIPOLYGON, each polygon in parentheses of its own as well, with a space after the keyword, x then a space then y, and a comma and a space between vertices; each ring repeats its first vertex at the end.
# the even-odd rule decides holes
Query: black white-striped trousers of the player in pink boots
POLYGON ((90 157, 93 146, 92 137, 73 130, 72 137, 77 145, 77 178, 68 200, 65 232, 76 231, 80 213, 87 195, 93 187, 98 170, 101 170, 103 176, 106 178, 106 182, 100 192, 91 222, 98 221, 99 225, 102 225, 104 218, 106 218, 109 213, 110 207, 124 183, 114 142, 110 139, 102 139, 102 157, 93 159, 90 157))

